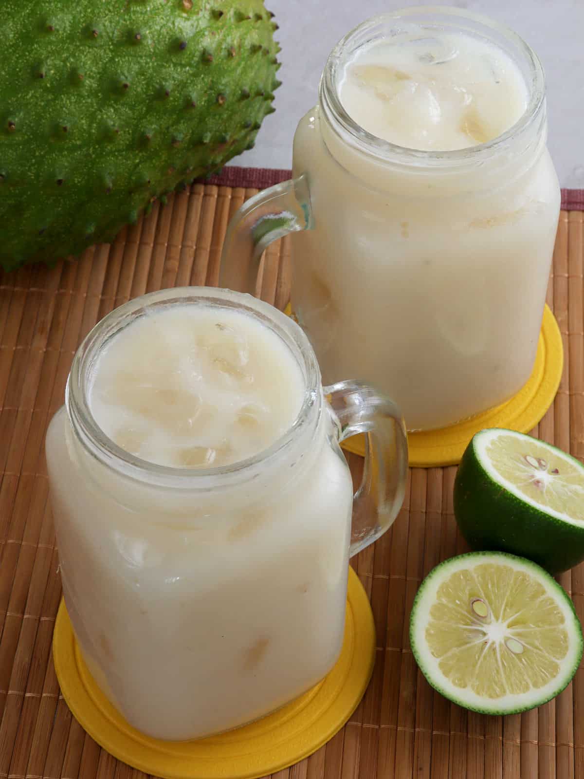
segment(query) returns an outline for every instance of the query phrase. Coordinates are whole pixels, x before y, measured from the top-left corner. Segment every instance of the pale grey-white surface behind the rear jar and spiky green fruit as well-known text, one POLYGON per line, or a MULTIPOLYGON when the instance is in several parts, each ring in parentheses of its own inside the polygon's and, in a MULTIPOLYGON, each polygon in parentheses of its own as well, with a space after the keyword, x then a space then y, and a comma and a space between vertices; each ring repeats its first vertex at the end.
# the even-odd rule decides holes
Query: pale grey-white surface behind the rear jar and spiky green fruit
MULTIPOLYGON (((292 139, 317 100, 318 80, 332 47, 369 16, 421 2, 407 0, 266 0, 280 25, 282 51, 276 113, 264 120, 255 148, 231 164, 292 164, 292 139)), ((458 8, 512 27, 536 51, 547 79, 548 146, 563 187, 584 187, 584 0, 457 0, 458 8)))

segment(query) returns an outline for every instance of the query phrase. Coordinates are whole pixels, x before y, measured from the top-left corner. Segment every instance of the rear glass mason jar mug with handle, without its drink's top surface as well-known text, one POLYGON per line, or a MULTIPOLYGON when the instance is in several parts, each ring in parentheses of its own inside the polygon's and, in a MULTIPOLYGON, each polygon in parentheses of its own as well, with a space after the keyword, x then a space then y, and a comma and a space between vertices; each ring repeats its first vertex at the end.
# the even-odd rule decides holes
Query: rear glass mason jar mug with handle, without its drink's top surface
MULTIPOLYGON (((431 123, 424 111, 435 104, 414 108, 431 123)), ((490 110, 486 121, 500 120, 501 101, 490 110)), ((396 400, 410 430, 486 411, 529 379, 537 351, 560 206, 546 135, 541 65, 511 30, 451 8, 370 19, 329 56, 318 104, 294 136, 294 178, 232 220, 220 284, 253 291, 262 250, 297 231, 291 305, 325 382, 371 382, 396 400), (415 150, 348 114, 340 93, 360 51, 381 43, 434 57, 426 48, 452 34, 471 51, 502 52, 525 83, 525 111, 505 132, 466 148, 415 150)))

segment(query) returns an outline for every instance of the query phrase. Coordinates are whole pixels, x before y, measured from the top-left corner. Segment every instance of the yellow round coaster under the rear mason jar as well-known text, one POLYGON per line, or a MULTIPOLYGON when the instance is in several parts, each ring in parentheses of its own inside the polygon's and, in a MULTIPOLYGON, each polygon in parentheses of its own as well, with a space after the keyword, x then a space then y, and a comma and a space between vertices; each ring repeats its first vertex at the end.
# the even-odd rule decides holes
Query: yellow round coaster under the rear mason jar
MULTIPOLYGON (((470 439, 484 428, 508 428, 521 433, 529 432, 554 402, 563 366, 564 350, 560 329, 546 305, 533 371, 522 389, 501 406, 449 428, 408 433, 410 466, 431 468, 459 464, 470 439)), ((342 446, 347 452, 361 456, 365 454, 363 435, 354 435, 344 441, 342 446)))

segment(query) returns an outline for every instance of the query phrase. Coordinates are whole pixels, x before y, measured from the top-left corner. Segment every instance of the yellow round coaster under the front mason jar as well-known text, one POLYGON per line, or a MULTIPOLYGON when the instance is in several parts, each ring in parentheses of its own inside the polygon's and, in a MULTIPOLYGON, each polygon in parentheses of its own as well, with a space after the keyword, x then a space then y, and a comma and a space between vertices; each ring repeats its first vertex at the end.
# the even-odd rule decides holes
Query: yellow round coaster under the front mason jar
POLYGON ((64 601, 55 623, 53 657, 72 714, 118 760, 164 779, 253 779, 308 757, 347 722, 371 679, 375 625, 367 594, 350 569, 343 649, 329 675, 262 720, 187 742, 149 738, 118 714, 83 662, 64 601))

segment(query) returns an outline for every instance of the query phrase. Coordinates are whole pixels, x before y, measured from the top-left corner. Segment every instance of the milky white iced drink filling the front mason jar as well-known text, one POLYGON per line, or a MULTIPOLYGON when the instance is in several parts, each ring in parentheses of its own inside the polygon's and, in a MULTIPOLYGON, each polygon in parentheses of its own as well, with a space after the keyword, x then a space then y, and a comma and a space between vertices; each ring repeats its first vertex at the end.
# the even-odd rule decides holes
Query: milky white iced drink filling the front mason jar
POLYGON ((72 416, 47 433, 86 663, 147 735, 261 717, 322 679, 343 640, 352 482, 322 389, 307 397, 297 355, 261 318, 213 302, 147 308, 92 354, 79 370, 106 456, 70 421, 76 379, 72 416), (302 409, 311 424, 277 449, 302 409), (133 458, 112 467, 112 441, 133 458))

